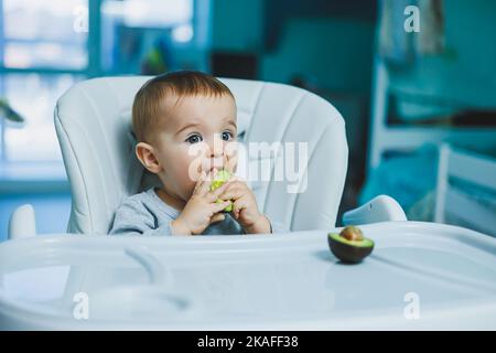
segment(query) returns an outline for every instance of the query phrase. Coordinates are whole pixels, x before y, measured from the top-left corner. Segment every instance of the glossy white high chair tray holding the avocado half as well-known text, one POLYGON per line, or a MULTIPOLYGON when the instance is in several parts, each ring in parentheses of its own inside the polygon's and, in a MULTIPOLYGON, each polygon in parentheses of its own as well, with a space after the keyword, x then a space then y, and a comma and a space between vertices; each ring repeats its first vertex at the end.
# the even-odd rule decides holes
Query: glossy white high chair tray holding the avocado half
POLYGON ((324 231, 52 235, 0 244, 0 328, 496 329, 496 239, 420 223, 362 226, 345 265, 324 231))

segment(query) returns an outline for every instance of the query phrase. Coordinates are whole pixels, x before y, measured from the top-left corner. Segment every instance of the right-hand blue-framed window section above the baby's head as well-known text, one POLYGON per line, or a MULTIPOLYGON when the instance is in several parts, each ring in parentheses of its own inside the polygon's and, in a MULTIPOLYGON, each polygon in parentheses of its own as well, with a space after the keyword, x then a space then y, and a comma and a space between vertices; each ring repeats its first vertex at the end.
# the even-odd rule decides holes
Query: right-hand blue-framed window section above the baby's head
MULTIPOLYGON (((101 3, 101 65, 105 72, 157 74, 173 68, 181 47, 198 46, 198 0, 105 0, 101 3)), ((200 12, 201 13, 201 12, 200 12)), ((201 31, 200 31, 201 32, 201 31)))

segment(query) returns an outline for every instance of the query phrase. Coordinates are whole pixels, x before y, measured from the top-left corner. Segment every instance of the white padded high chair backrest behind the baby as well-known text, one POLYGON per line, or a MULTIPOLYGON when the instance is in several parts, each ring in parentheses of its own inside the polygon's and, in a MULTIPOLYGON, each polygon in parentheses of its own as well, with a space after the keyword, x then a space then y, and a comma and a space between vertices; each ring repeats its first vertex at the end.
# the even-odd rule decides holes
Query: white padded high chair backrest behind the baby
MULTIPOLYGON (((55 129, 73 195, 69 233, 108 233, 122 200, 150 183, 129 138, 132 101, 149 78, 88 79, 76 84, 58 99, 55 129)), ((282 153, 271 153, 277 154, 272 159, 263 153, 248 153, 248 169, 260 159, 269 158, 269 163, 262 163, 260 169, 270 180, 262 178, 250 183, 260 208, 291 231, 333 227, 348 156, 339 113, 325 99, 301 88, 220 79, 236 98, 238 129, 244 132, 240 138, 245 143, 295 143, 292 150, 284 148, 282 153), (295 185, 294 179, 274 178, 276 165, 288 162, 284 153, 304 157, 304 146, 306 182, 300 179, 302 192, 294 193, 294 189, 289 188, 295 185)), ((296 158, 294 165, 288 168, 298 171, 298 165, 296 158)))

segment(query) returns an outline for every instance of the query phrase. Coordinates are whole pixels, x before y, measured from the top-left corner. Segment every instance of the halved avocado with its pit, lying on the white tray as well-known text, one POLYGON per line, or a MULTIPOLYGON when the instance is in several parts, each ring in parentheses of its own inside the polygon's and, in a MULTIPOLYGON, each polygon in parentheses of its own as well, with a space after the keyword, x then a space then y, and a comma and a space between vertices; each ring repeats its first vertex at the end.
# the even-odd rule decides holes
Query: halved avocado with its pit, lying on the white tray
POLYGON ((374 249, 374 242, 364 237, 356 226, 347 226, 339 234, 327 235, 331 252, 343 263, 357 264, 366 258, 374 249))

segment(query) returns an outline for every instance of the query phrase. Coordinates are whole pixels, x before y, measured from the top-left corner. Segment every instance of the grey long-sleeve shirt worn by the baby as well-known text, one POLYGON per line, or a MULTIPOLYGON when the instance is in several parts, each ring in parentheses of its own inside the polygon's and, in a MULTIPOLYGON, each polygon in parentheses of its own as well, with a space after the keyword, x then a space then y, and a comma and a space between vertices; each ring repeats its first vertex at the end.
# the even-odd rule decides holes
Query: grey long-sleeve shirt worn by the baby
MULTIPOLYGON (((180 212, 155 193, 153 188, 129 196, 118 207, 110 229, 111 235, 172 235, 171 222, 180 215, 180 212)), ((272 224, 272 232, 283 232, 279 224, 272 224)), ((203 235, 237 235, 245 234, 242 227, 229 213, 222 222, 211 224, 203 235)))

